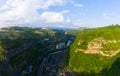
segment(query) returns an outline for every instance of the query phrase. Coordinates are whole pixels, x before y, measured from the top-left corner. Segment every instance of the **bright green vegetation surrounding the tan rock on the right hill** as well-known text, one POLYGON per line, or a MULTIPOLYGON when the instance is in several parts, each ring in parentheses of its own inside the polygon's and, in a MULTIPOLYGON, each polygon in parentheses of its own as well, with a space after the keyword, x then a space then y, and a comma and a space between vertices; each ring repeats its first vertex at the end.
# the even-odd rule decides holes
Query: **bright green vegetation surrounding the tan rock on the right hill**
MULTIPOLYGON (((82 52, 75 53, 77 48, 87 49, 88 43, 99 37, 103 37, 106 40, 120 40, 120 26, 96 28, 91 29, 86 33, 79 34, 70 50, 69 66, 71 70, 73 72, 82 73, 83 76, 119 76, 120 70, 115 66, 119 66, 116 62, 118 63, 120 54, 117 54, 114 57, 103 57, 101 55, 84 54, 82 52), (77 45, 79 40, 83 41, 81 45, 77 45), (116 75, 114 75, 115 71, 113 69, 118 69, 116 75)), ((107 47, 111 46, 113 49, 118 49, 112 44, 107 45, 107 47)), ((106 48, 106 46, 104 46, 104 48, 107 50, 110 49, 106 48)))

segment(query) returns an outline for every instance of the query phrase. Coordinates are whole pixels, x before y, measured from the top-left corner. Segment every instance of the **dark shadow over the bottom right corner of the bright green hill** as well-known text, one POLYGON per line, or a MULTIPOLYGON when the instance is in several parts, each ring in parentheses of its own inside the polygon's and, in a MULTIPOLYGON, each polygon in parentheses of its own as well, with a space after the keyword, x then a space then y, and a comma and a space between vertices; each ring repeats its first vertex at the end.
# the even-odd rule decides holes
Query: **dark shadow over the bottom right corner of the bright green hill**
POLYGON ((116 59, 110 69, 103 69, 99 73, 74 73, 75 76, 120 76, 120 58, 116 59))

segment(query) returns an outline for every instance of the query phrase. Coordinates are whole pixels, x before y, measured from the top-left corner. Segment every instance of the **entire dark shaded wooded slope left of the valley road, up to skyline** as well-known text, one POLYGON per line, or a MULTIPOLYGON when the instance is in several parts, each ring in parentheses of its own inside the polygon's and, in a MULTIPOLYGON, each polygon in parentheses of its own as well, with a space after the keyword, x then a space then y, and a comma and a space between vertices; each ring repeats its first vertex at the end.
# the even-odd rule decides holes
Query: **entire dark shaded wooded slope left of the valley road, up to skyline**
MULTIPOLYGON (((0 29, 0 63, 8 62, 20 73, 35 76, 42 57, 56 50, 56 44, 66 42, 62 30, 9 27, 0 29), (6 57, 9 60, 6 60, 6 57), (32 66, 32 72, 29 67, 32 66)), ((1 68, 2 69, 2 68, 1 68)), ((6 71, 2 76, 8 76, 6 71)))

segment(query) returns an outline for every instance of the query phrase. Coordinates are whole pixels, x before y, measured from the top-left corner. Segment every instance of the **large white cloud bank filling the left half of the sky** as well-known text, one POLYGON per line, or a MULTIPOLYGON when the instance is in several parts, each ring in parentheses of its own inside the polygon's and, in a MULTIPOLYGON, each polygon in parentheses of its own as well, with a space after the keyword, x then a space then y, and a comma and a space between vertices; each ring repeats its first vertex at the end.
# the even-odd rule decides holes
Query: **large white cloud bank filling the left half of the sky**
POLYGON ((45 11, 50 6, 61 6, 66 3, 67 0, 7 0, 0 7, 0 27, 4 24, 6 26, 22 23, 34 24, 42 20, 50 23, 63 22, 65 11, 62 11, 64 13, 45 11), (43 13, 39 14, 38 9, 43 9, 43 13))

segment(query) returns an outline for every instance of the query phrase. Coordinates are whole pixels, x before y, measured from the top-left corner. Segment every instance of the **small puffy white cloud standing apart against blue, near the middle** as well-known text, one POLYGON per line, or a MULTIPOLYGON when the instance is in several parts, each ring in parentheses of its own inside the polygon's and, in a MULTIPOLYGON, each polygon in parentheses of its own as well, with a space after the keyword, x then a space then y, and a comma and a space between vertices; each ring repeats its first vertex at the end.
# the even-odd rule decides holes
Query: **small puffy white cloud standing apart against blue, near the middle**
POLYGON ((41 18, 47 23, 64 22, 63 15, 56 12, 43 12, 41 18))

